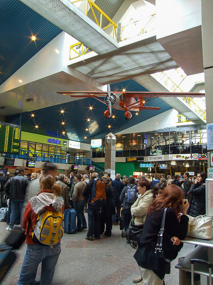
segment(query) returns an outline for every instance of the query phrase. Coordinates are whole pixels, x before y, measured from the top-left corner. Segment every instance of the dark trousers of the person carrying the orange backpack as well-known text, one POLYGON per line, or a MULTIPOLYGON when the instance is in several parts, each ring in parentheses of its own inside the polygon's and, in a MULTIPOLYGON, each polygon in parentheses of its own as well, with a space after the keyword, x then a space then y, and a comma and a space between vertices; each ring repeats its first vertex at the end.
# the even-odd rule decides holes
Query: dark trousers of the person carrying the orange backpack
POLYGON ((87 237, 93 235, 97 238, 100 237, 100 208, 95 208, 93 205, 88 204, 88 232, 87 237))

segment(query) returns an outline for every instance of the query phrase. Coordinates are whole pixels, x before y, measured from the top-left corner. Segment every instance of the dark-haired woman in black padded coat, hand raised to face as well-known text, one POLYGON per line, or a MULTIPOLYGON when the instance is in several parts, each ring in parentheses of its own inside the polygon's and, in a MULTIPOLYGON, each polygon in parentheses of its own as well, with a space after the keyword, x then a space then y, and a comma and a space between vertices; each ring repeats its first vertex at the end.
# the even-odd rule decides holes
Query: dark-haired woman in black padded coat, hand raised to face
POLYGON ((192 217, 205 215, 206 213, 206 178, 205 172, 198 174, 195 183, 192 184, 187 193, 192 195, 189 206, 189 215, 192 217))

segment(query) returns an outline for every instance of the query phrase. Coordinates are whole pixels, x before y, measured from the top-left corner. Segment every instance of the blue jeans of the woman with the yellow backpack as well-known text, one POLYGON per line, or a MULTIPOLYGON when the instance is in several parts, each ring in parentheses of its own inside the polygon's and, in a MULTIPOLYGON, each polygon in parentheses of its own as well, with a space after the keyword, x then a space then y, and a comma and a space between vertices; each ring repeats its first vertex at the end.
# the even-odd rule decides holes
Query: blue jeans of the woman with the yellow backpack
POLYGON ((54 245, 53 249, 45 245, 27 245, 17 285, 35 284, 37 268, 41 262, 40 285, 51 285, 60 252, 60 243, 54 245))

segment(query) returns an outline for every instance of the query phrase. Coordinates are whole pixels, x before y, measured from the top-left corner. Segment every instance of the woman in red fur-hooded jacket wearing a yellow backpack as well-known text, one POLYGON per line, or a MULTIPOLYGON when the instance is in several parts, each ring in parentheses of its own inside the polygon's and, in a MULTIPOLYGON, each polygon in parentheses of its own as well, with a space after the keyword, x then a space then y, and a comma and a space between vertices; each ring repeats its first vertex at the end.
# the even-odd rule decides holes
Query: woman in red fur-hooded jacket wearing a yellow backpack
POLYGON ((61 188, 51 175, 41 176, 40 192, 30 199, 23 214, 27 251, 17 285, 38 284, 36 274, 41 266, 40 285, 51 285, 64 232, 64 200, 61 188))

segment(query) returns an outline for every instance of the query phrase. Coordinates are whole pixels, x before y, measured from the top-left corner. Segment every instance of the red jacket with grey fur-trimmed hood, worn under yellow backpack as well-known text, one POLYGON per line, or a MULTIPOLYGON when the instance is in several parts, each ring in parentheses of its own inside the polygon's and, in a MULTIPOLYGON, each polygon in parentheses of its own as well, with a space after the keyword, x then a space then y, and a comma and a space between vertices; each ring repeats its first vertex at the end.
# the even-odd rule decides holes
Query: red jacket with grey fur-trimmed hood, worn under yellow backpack
POLYGON ((36 221, 37 221, 37 217, 38 214, 46 209, 49 211, 53 211, 53 212, 57 212, 59 211, 59 209, 62 210, 62 212, 64 213, 64 200, 62 197, 56 197, 53 191, 51 190, 42 190, 41 192, 39 192, 37 194, 37 196, 33 197, 32 199, 30 199, 30 201, 28 202, 25 210, 24 210, 24 214, 23 214, 23 221, 22 221, 22 227, 25 230, 25 235, 26 235, 26 243, 27 244, 34 244, 33 240, 32 240, 32 231, 34 231, 35 226, 36 226, 36 221), (49 196, 53 196, 53 202, 50 203, 49 205, 44 205, 44 203, 46 203, 46 201, 44 201, 44 203, 42 203, 42 197, 41 195, 39 196, 39 194, 44 193, 44 194, 49 194, 49 196), (39 198, 39 199, 38 199, 39 198), (31 221, 31 222, 30 222, 31 221), (29 226, 28 226, 29 225, 29 226))

